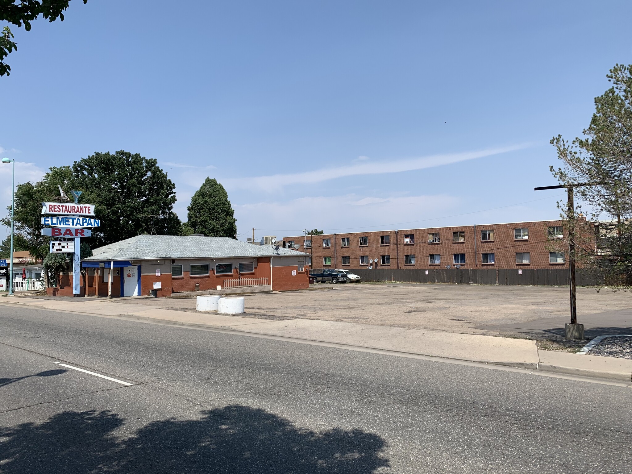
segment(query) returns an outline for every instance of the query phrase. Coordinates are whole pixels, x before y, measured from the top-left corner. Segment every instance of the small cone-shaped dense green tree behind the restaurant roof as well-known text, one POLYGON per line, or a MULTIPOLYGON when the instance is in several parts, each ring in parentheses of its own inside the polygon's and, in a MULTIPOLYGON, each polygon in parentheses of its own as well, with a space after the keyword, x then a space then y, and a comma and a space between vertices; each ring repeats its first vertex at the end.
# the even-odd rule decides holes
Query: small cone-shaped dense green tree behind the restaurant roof
POLYGON ((217 179, 205 179, 187 210, 188 225, 196 234, 236 238, 234 210, 228 193, 217 179))

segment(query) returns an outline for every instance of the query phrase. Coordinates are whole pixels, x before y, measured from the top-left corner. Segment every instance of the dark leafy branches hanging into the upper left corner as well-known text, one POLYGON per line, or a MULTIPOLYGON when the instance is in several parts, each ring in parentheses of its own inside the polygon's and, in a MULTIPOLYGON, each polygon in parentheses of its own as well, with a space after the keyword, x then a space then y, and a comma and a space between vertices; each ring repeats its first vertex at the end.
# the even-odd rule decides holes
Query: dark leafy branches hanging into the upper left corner
MULTIPOLYGON (((30 31, 31 21, 38 16, 46 18, 48 21, 64 21, 64 10, 68 8, 70 0, 0 0, 0 20, 8 21, 16 27, 24 26, 30 31)), ((88 0, 83 0, 88 3, 88 0)), ((18 49, 13 41, 13 34, 9 27, 3 28, 0 36, 0 76, 8 76, 11 68, 4 63, 4 58, 9 52, 18 49)))

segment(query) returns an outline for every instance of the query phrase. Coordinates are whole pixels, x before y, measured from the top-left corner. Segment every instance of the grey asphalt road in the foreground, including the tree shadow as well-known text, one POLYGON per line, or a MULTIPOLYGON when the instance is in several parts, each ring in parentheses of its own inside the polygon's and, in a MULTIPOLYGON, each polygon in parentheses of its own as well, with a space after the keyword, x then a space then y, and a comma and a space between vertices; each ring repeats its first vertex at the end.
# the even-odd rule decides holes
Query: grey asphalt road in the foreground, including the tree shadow
POLYGON ((0 473, 632 472, 624 387, 7 305, 0 357, 0 473))

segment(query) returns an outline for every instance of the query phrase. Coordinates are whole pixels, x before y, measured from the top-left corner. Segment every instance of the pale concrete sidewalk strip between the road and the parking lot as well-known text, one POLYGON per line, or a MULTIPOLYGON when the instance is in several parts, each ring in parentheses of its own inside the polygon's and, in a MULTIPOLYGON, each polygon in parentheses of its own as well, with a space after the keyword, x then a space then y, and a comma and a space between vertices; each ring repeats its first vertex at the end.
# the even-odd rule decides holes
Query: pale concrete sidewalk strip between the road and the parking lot
POLYGON ((228 329, 251 334, 318 341, 339 346, 382 349, 478 363, 558 372, 581 377, 632 381, 632 360, 538 350, 535 341, 509 337, 458 334, 313 319, 265 320, 217 313, 183 312, 143 305, 140 301, 65 298, 3 298, 0 303, 100 316, 120 316, 228 329))

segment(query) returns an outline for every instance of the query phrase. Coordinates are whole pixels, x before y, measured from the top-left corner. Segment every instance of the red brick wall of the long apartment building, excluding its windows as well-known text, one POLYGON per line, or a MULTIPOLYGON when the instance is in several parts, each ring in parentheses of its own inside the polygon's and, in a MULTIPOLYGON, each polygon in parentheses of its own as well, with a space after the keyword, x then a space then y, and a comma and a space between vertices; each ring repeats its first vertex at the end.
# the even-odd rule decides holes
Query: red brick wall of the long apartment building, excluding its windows
MULTIPOLYGON (((465 254, 463 268, 559 268, 566 264, 551 264, 549 262, 549 247, 551 241, 548 237, 549 226, 562 226, 562 221, 511 222, 506 224, 477 224, 474 226, 454 226, 425 229, 402 229, 399 231, 375 231, 348 234, 325 234, 312 236, 313 268, 367 268, 371 264, 360 264, 360 255, 369 259, 377 259, 377 267, 384 269, 428 269, 445 268, 454 266, 453 255, 465 254), (528 228, 528 240, 514 239, 514 229, 528 228), (482 241, 481 231, 493 231, 493 241, 482 241), (463 232, 465 241, 453 242, 453 232, 463 232), (429 233, 439 233, 439 243, 428 243, 429 233), (414 234, 415 243, 404 243, 406 234, 414 234), (389 244, 382 245, 380 236, 389 236, 389 244), (360 245, 360 237, 367 237, 368 245, 360 245), (323 239, 331 240, 331 247, 322 246, 323 239), (343 238, 349 238, 349 246, 342 247, 343 238), (528 264, 516 263, 516 252, 529 252, 528 264), (494 264, 483 264, 482 254, 494 253, 494 264), (431 265, 430 254, 441 255, 439 265, 431 265), (389 255, 390 264, 382 264, 382 255, 389 255), (415 264, 405 264, 405 255, 415 255, 415 264), (349 257, 349 264, 343 265, 342 257, 349 257), (323 257, 331 257, 331 265, 325 265, 323 257)), ((303 236, 284 237, 284 241, 294 240, 303 243, 303 236)), ((373 264, 375 267, 375 263, 373 264)))

